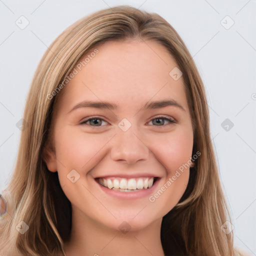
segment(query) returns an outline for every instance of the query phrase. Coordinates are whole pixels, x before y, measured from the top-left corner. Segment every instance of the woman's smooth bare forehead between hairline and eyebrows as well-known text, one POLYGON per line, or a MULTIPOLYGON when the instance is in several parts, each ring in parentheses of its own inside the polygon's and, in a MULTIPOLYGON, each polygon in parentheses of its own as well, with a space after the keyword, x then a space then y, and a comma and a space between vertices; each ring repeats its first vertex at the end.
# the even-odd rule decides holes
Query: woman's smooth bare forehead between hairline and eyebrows
POLYGON ((94 50, 91 49, 74 66, 77 74, 64 88, 63 107, 70 108, 70 104, 86 99, 139 107, 150 99, 166 98, 174 98, 187 107, 182 76, 174 80, 169 75, 177 64, 161 44, 109 41, 96 48, 96 54, 90 54, 94 50))

